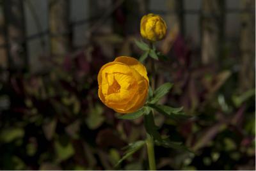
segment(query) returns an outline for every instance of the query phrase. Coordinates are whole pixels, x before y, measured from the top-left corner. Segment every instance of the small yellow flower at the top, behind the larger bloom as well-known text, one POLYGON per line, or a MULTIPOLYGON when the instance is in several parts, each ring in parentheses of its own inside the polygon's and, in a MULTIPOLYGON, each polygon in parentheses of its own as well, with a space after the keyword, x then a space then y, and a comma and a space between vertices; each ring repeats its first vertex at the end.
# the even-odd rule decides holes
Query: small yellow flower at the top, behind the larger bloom
POLYGON ((166 23, 159 15, 149 13, 140 22, 140 34, 150 41, 162 40, 166 34, 166 23))

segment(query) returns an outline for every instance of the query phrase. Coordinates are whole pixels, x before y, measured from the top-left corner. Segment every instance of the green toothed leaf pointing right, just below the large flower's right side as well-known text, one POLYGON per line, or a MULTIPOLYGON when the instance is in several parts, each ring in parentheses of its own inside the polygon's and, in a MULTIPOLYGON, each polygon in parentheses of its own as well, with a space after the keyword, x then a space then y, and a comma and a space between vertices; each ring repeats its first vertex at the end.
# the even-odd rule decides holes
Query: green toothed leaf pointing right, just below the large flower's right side
POLYGON ((154 108, 157 112, 175 121, 191 119, 193 117, 190 115, 185 115, 184 112, 181 112, 183 107, 173 108, 166 105, 156 105, 156 104, 149 104, 148 106, 154 108))

